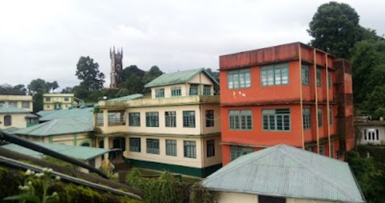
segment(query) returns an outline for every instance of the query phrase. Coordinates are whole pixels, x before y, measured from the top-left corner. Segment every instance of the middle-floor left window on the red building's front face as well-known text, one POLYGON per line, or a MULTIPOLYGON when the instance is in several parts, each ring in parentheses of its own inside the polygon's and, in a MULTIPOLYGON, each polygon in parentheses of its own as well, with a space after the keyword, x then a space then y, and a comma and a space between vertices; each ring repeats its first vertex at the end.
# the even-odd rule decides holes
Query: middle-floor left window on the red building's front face
POLYGON ((251 110, 230 110, 229 128, 232 130, 253 129, 253 114, 251 110))

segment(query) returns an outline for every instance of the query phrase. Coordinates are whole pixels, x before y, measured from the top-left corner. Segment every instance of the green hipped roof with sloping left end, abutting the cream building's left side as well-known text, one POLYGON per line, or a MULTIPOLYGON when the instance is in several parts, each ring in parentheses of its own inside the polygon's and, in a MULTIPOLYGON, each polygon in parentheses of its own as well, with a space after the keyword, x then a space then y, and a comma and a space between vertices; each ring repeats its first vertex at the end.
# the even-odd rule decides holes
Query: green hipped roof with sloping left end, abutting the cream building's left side
POLYGON ((29 136, 49 136, 90 131, 94 131, 94 121, 92 117, 72 117, 54 119, 52 121, 18 130, 15 132, 15 134, 29 136))

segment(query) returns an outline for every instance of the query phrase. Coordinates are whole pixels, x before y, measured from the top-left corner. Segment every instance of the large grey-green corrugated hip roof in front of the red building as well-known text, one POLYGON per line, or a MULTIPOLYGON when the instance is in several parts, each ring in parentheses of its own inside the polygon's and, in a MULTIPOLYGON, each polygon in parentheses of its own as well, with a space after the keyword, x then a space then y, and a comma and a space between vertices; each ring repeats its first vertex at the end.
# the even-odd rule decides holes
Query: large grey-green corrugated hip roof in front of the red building
POLYGON ((218 191, 365 202, 347 163, 284 144, 239 157, 203 181, 218 191))

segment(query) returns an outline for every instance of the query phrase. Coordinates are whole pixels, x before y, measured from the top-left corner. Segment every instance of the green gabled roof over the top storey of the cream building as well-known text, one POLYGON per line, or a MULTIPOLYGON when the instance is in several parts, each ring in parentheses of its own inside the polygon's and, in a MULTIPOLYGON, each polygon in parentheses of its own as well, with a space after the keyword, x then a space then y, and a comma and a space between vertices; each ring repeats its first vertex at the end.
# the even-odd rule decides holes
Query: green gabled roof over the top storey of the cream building
POLYGON ((218 84, 218 82, 213 78, 213 76, 211 76, 204 68, 201 68, 163 74, 154 79, 153 81, 147 83, 144 87, 157 87, 186 83, 200 72, 204 72, 213 81, 213 83, 218 84))

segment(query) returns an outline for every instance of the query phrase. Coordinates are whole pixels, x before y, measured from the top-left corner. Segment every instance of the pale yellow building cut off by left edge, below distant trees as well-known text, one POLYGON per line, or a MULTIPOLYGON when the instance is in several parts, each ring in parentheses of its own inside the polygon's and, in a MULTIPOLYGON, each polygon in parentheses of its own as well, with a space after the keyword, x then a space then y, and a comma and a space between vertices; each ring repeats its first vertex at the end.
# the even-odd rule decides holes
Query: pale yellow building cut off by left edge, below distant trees
POLYGON ((0 95, 0 104, 33 111, 32 96, 30 95, 0 95))

